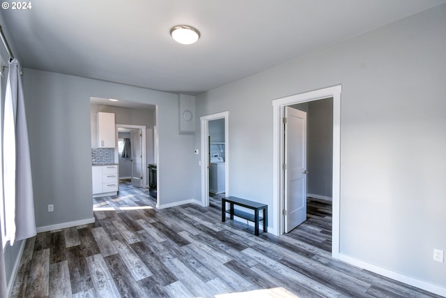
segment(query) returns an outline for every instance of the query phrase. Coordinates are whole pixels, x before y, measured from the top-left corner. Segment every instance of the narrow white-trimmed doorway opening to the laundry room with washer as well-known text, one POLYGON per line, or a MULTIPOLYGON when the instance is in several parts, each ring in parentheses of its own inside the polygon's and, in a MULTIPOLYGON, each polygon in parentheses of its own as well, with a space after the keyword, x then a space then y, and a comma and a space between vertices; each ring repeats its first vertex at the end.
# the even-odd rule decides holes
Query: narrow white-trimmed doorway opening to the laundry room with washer
MULTIPOLYGON (((224 190, 224 195, 229 195, 229 112, 220 112, 217 114, 210 114, 200 118, 201 121, 201 205, 203 207, 209 206, 209 193, 215 191, 221 193, 224 190), (220 128, 224 128, 223 131, 220 128), (220 130, 220 133, 217 131, 220 130), (210 135, 213 133, 214 137, 210 135), (212 160, 211 160, 212 158, 212 160), (218 161, 220 158, 220 161, 218 161), (215 161, 215 163, 214 163, 215 161), (218 164, 220 163, 220 165, 218 164), (217 189, 210 189, 210 170, 215 170, 214 175, 224 175, 224 186, 217 189)), ((216 183, 218 182, 218 177, 216 183)), ((214 188, 214 186, 213 186, 214 188)))

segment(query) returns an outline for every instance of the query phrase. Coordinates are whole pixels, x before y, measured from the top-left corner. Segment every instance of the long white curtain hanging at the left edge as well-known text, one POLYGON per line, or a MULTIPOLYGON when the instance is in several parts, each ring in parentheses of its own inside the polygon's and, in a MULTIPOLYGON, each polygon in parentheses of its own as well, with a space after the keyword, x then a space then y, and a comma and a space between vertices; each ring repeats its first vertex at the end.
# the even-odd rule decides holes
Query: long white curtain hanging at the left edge
POLYGON ((17 59, 9 63, 3 117, 3 192, 6 239, 13 245, 36 235, 33 182, 22 78, 17 59))

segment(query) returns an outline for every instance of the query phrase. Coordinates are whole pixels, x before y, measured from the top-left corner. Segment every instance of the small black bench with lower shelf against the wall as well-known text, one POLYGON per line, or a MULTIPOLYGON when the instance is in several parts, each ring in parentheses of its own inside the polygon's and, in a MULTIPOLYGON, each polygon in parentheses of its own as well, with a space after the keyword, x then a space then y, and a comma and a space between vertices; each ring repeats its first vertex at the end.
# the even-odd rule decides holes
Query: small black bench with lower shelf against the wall
POLYGON ((226 221, 226 213, 230 214, 231 219, 234 219, 234 215, 240 218, 245 218, 248 221, 254 222, 254 233, 259 236, 259 221, 263 221, 263 232, 266 232, 268 227, 268 205, 245 200, 237 197, 222 198, 222 221, 226 221), (229 203, 229 210, 226 210, 226 203, 229 203), (245 207, 254 210, 254 214, 250 214, 245 211, 234 209, 234 205, 245 207), (263 217, 259 216, 259 211, 263 210, 263 217))

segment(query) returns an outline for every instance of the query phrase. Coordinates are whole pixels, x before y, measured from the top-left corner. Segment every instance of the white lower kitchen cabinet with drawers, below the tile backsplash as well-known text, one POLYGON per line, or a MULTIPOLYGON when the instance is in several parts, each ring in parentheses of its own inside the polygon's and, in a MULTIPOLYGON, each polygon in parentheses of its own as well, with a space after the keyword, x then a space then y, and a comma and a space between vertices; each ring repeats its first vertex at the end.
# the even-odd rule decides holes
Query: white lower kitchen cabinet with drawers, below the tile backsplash
POLYGON ((119 190, 118 165, 93 165, 93 197, 116 195, 119 190))

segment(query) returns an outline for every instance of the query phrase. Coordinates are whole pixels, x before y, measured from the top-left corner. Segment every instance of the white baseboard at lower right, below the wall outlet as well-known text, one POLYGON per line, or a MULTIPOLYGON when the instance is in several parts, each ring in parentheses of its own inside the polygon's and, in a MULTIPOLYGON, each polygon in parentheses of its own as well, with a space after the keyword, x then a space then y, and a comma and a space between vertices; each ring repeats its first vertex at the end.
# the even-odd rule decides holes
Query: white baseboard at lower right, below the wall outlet
POLYGON ((361 267, 363 269, 367 269, 369 271, 375 272, 382 276, 386 276, 388 278, 392 278, 395 281, 401 281, 401 283, 406 283, 408 285, 413 285, 414 287, 433 292, 436 295, 440 295, 446 297, 446 288, 440 287, 439 285, 433 285, 431 283, 427 283, 426 281, 421 281, 420 279, 413 278, 410 276, 406 276, 404 274, 400 274, 388 269, 384 269, 382 267, 378 267, 376 265, 369 264, 367 262, 363 262, 361 260, 357 260, 355 258, 351 258, 348 255, 343 255, 339 253, 339 260, 348 262, 348 264, 355 265, 357 267, 361 267))

